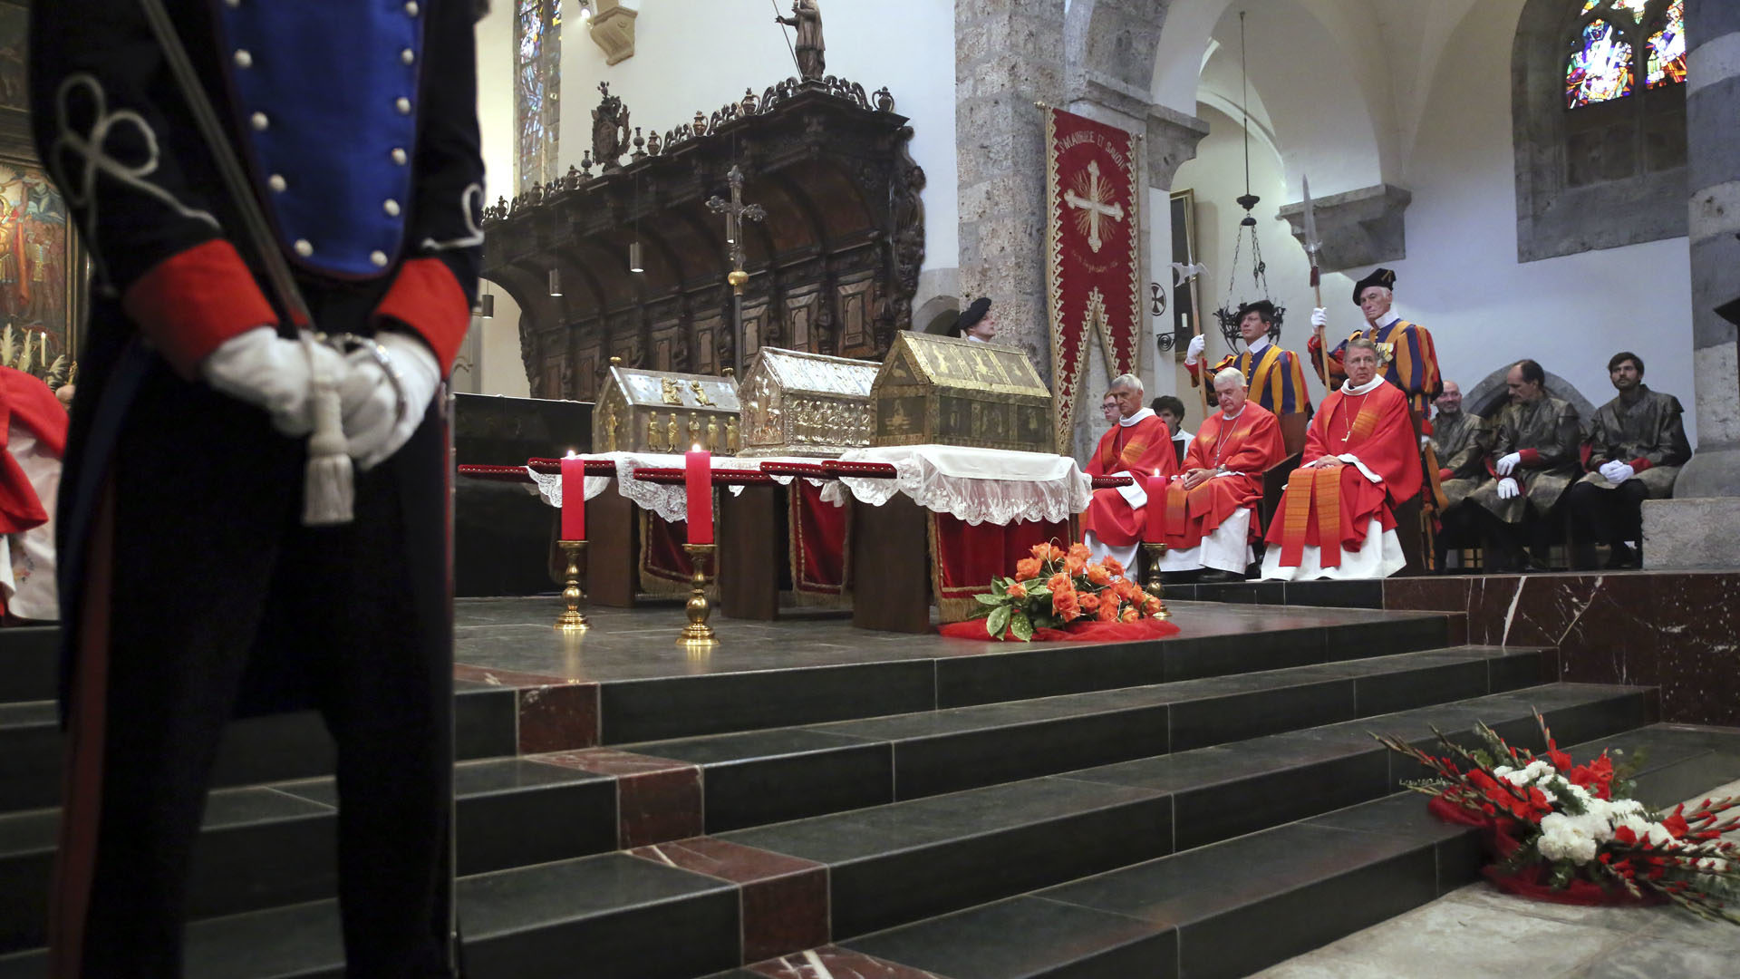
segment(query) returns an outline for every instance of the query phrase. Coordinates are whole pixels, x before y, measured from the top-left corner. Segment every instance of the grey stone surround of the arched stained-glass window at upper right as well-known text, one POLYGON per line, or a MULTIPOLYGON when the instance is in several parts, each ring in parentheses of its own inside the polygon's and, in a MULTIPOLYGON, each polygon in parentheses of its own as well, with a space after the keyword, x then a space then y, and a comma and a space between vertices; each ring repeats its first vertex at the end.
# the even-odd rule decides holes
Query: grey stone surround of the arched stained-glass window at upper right
MULTIPOLYGON (((1641 143, 1634 148, 1636 172, 1571 186, 1568 113, 1564 108, 1566 37, 1580 19, 1575 0, 1526 0, 1510 47, 1510 138, 1516 155, 1517 261, 1535 261, 1582 251, 1620 247, 1683 237, 1686 233, 1686 167, 1651 171, 1641 143)), ((1656 120, 1674 129, 1684 148, 1684 85, 1637 91, 1625 106, 1587 106, 1575 111, 1618 110, 1644 113, 1644 96, 1670 105, 1677 118, 1656 120)), ((1672 113, 1669 113, 1672 115, 1672 113)), ((1641 122, 1636 138, 1643 139, 1641 122)), ((1599 150, 1596 150, 1599 152, 1599 150)))

